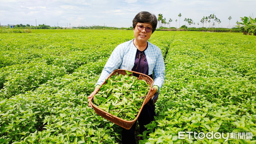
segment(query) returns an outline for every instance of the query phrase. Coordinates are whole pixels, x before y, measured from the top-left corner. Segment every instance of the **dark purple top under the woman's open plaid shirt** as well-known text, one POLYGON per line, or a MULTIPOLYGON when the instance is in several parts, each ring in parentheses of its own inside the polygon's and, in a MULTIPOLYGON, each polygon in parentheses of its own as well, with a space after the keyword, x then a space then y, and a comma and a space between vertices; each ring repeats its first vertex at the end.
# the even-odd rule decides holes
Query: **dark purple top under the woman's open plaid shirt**
MULTIPOLYGON (((140 72, 145 75, 148 75, 148 61, 144 52, 147 48, 148 48, 148 44, 143 51, 140 51, 139 49, 137 49, 137 52, 135 55, 134 67, 131 69, 132 71, 140 72)), ((138 77, 139 75, 134 74, 134 76, 138 77)), ((148 76, 150 76, 153 79, 153 75, 148 75, 148 76)))

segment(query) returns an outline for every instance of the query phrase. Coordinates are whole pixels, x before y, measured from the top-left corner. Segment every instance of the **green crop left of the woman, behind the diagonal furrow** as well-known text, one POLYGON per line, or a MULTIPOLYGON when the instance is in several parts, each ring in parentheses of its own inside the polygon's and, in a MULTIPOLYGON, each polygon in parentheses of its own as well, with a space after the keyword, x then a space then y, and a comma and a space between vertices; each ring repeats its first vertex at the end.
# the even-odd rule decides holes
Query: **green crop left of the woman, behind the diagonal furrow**
POLYGON ((52 78, 72 73, 85 63, 106 57, 108 49, 113 49, 112 44, 118 44, 118 41, 105 44, 104 40, 88 35, 80 33, 69 38, 70 35, 66 34, 68 38, 64 39, 64 35, 58 33, 48 37, 47 34, 29 34, 26 37, 17 35, 16 38, 11 35, 6 39, 10 36, 6 34, 1 45, 0 97, 10 98, 34 90, 52 78), (81 39, 85 39, 83 43, 80 43, 81 39), (89 43, 91 39, 96 39, 97 43, 89 43), (77 40, 76 44, 73 40, 77 40))

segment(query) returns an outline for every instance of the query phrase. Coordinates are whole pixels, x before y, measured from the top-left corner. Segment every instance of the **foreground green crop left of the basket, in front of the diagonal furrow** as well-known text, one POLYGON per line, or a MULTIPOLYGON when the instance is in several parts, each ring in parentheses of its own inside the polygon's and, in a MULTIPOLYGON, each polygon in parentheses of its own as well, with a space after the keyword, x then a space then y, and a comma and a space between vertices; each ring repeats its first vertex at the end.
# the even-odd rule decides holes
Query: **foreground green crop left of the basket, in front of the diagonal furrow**
POLYGON ((35 91, 1 101, 2 140, 17 143, 114 141, 109 137, 111 133, 115 135, 113 124, 87 107, 87 95, 95 84, 91 79, 98 78, 96 74, 99 74, 92 64, 99 66, 88 63, 73 74, 42 84, 35 91))

